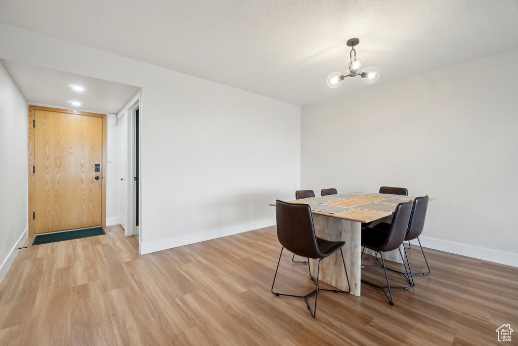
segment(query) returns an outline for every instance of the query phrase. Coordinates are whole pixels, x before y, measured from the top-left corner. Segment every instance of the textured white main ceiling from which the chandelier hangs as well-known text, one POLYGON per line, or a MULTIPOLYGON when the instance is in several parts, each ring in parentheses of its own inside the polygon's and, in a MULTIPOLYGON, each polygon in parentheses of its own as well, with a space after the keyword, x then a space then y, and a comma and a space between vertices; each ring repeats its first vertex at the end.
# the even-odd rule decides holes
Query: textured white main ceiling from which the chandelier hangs
POLYGON ((2 0, 0 22, 298 105, 518 48, 518 0, 2 0), (380 78, 330 89, 351 37, 380 78))

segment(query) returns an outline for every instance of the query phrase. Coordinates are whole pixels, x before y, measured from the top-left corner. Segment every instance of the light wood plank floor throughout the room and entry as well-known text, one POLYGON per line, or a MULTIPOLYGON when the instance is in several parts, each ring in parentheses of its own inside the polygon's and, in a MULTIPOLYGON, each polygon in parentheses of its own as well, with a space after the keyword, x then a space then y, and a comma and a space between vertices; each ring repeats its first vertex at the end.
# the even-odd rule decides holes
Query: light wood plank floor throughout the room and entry
MULTIPOLYGON (((431 275, 395 290, 395 306, 362 284, 362 297, 321 293, 313 320, 304 300, 270 293, 280 251, 274 227, 144 256, 136 237, 119 226, 106 231, 27 240, 0 285, 0 345, 484 345, 498 344, 504 323, 518 341, 518 268, 426 250, 431 275)), ((412 246, 415 270, 424 269, 419 255, 412 246)), ((384 279, 379 269, 362 276, 384 279)), ((307 267, 287 252, 276 287, 313 289, 307 267)))

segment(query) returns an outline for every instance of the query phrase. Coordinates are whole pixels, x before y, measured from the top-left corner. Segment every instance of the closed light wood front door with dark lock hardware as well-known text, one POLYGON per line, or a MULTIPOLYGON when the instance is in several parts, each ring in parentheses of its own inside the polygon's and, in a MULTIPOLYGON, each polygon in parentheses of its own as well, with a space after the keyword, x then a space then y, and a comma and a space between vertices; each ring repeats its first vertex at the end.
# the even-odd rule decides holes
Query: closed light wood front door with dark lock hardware
POLYGON ((106 118, 50 109, 33 110, 34 233, 102 226, 106 118))

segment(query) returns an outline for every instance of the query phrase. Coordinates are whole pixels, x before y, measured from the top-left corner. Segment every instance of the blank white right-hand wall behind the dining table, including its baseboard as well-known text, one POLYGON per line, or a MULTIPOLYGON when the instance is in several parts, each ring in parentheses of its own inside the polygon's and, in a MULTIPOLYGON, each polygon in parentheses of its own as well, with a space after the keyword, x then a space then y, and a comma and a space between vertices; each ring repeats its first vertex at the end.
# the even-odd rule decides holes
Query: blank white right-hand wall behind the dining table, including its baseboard
POLYGON ((425 246, 518 266, 516 61, 518 50, 303 107, 301 188, 428 194, 425 246))

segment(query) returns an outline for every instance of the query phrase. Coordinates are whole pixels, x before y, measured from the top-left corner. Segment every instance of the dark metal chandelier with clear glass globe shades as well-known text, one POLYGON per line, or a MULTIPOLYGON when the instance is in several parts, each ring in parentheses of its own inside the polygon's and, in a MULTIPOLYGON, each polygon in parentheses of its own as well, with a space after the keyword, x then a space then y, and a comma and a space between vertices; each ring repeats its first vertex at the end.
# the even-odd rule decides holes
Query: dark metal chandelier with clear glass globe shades
POLYGON ((333 72, 327 77, 327 84, 329 87, 335 89, 342 85, 343 78, 361 76, 363 81, 367 84, 372 84, 378 80, 380 72, 376 67, 365 67, 365 61, 362 58, 356 57, 356 50, 354 46, 359 43, 358 38, 351 38, 347 41, 347 45, 351 47, 349 52, 349 64, 347 65, 347 74, 342 75, 340 72, 333 72), (354 53, 354 54, 353 54, 354 53))

